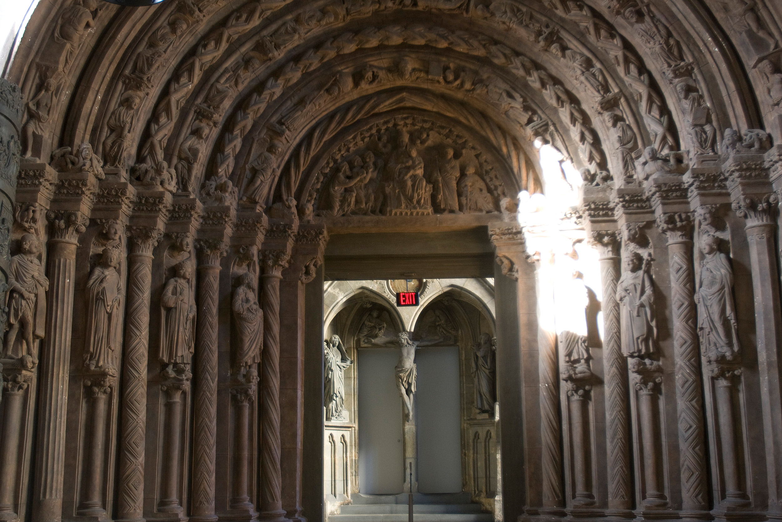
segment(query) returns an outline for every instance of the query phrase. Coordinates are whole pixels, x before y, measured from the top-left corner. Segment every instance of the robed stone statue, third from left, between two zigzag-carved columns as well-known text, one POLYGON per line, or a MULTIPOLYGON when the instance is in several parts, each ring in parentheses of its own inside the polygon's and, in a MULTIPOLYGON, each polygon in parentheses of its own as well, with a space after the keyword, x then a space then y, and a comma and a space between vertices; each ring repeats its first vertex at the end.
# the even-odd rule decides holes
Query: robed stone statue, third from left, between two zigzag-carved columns
POLYGON ((190 287, 192 267, 181 262, 175 267, 176 276, 163 288, 160 304, 163 322, 160 328, 160 362, 171 373, 174 365, 190 364, 195 340, 195 299, 190 287))

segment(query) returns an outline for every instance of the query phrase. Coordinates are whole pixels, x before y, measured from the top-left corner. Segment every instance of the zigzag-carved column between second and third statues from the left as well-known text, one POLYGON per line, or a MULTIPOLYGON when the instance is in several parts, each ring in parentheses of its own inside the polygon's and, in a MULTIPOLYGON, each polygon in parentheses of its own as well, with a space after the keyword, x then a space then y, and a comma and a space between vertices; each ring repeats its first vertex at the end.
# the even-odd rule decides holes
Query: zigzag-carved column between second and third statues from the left
POLYGON ((127 276, 127 313, 122 362, 122 420, 117 522, 144 520, 144 450, 146 435, 149 302, 152 248, 157 229, 128 229, 131 254, 127 276))

